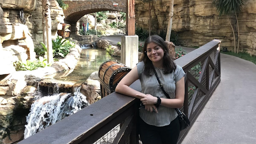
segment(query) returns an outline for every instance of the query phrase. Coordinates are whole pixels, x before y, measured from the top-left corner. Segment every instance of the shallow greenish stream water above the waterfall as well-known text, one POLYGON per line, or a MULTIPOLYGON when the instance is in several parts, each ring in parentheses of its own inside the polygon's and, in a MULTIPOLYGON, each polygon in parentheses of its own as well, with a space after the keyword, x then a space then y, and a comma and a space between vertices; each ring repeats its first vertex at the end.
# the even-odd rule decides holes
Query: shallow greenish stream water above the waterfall
POLYGON ((101 48, 83 49, 74 70, 67 76, 54 78, 82 83, 92 72, 98 71, 99 66, 107 60, 120 61, 120 57, 110 56, 105 49, 101 48))

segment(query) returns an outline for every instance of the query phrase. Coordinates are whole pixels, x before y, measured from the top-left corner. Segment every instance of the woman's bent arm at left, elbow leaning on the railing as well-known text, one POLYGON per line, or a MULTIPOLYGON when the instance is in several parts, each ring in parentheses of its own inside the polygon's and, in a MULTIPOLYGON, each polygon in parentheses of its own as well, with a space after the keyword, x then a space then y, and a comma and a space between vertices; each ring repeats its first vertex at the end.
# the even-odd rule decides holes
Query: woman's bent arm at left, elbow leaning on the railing
POLYGON ((117 86, 115 87, 115 92, 122 93, 124 95, 132 96, 139 99, 142 98, 141 96, 136 94, 145 95, 144 93, 141 93, 129 87, 130 84, 132 84, 137 79, 138 79, 138 70, 137 70, 137 66, 135 66, 117 84, 117 86))

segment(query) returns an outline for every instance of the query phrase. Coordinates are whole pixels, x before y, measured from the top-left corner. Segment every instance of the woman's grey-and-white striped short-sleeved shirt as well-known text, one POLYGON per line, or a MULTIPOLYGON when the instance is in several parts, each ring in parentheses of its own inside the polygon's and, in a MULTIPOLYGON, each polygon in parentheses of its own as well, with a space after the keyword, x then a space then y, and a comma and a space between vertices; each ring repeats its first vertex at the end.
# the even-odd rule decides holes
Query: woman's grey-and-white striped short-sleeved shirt
MULTIPOLYGON (((137 63, 138 76, 142 89, 141 92, 151 94, 152 96, 159 96, 160 98, 167 98, 160 89, 156 76, 154 74, 151 76, 144 75, 144 67, 145 65, 143 61, 137 63)), ((154 68, 166 93, 169 94, 170 98, 175 98, 175 82, 180 80, 185 74, 182 67, 176 65, 175 70, 166 74, 163 73, 164 69, 157 67, 154 68)), ((139 109, 139 116, 147 124, 155 126, 169 125, 170 122, 177 117, 177 112, 174 108, 160 105, 157 110, 158 113, 150 112, 141 107, 139 109)))

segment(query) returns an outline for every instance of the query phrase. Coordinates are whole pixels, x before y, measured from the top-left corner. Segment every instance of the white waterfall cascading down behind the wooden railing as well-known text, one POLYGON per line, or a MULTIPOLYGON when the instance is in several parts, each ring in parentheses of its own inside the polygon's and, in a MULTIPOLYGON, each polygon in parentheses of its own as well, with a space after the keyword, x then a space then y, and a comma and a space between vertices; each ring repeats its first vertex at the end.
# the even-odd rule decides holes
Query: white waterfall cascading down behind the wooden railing
POLYGON ((24 138, 56 123, 80 109, 88 106, 86 96, 80 93, 80 87, 72 93, 59 93, 44 96, 33 102, 26 116, 24 138))

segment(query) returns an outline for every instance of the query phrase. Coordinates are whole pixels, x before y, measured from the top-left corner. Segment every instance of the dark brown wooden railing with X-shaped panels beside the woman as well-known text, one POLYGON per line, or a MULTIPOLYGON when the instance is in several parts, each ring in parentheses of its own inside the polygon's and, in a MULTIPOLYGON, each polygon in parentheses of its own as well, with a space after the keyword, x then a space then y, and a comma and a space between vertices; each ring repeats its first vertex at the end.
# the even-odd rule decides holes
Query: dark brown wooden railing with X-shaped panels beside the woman
MULTIPOLYGON (((220 40, 175 60, 186 72, 181 110, 194 122, 220 82, 220 40)), ((130 85, 140 91, 140 82, 130 85)), ((19 143, 138 143, 138 99, 113 92, 19 143)), ((189 128, 180 132, 179 143, 189 128)))

